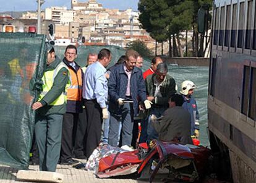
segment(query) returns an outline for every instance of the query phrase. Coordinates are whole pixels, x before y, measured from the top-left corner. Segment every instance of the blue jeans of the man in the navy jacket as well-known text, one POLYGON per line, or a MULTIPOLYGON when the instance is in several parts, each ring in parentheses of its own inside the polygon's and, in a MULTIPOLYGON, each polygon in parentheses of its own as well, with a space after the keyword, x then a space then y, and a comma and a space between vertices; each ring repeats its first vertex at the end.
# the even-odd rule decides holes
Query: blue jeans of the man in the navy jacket
POLYGON ((108 143, 113 147, 117 147, 119 142, 119 129, 120 129, 120 121, 122 124, 122 143, 121 145, 130 146, 132 143, 132 128, 134 123, 132 122, 132 114, 131 113, 132 104, 124 103, 121 117, 116 116, 115 114, 111 114, 109 121, 109 134, 108 134, 108 143))

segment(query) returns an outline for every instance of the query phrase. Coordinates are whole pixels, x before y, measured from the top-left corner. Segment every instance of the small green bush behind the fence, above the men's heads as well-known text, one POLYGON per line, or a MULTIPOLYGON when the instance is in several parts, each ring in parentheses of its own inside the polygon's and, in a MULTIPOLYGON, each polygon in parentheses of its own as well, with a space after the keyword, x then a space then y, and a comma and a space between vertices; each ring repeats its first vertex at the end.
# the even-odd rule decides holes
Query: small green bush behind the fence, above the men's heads
POLYGON ((140 40, 131 41, 128 44, 128 49, 134 49, 137 51, 142 57, 150 57, 152 56, 152 52, 147 46, 140 40))

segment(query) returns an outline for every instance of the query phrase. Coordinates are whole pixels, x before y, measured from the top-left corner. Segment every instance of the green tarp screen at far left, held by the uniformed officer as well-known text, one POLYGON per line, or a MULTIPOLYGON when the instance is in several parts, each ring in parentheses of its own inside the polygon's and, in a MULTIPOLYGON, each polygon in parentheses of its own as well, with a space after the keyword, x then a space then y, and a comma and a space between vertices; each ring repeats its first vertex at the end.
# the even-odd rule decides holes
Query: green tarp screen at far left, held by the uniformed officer
POLYGON ((0 33, 0 164, 28 167, 45 56, 44 35, 0 33))

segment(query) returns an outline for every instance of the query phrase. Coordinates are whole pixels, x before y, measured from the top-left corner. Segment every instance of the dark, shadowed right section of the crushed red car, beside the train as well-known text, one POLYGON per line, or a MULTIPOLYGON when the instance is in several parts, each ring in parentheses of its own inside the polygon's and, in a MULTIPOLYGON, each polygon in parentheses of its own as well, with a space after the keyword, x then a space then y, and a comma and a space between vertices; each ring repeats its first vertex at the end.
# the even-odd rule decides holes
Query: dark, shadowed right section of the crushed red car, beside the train
POLYGON ((153 147, 140 164, 138 173, 142 175, 141 179, 152 182, 160 168, 168 168, 173 179, 194 182, 207 166, 209 156, 210 150, 205 147, 153 140, 153 147), (157 163, 154 169, 150 168, 153 161, 157 163), (190 171, 183 172, 184 167, 190 171))

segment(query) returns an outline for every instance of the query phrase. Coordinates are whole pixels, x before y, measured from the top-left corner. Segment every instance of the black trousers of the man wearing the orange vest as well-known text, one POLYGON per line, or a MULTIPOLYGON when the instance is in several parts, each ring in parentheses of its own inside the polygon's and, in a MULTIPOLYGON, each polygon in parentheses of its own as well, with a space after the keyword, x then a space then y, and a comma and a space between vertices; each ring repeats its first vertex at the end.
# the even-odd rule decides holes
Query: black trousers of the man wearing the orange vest
POLYGON ((61 161, 72 159, 72 150, 75 145, 75 134, 79 113, 66 113, 63 115, 61 138, 61 161))

